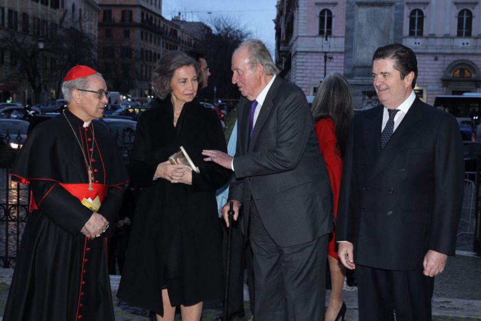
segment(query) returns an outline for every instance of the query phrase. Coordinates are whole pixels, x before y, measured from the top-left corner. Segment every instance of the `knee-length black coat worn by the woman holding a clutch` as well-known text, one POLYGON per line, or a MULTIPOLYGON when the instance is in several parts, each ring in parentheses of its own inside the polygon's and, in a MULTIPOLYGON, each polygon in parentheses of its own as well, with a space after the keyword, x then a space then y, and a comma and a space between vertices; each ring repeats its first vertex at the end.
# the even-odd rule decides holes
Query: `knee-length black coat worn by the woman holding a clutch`
POLYGON ((217 116, 197 99, 186 103, 177 126, 173 125, 170 96, 145 112, 128 166, 132 183, 141 187, 132 225, 118 296, 126 302, 163 314, 161 288, 164 266, 172 240, 180 237, 179 282, 181 291, 169 290, 171 303, 195 304, 223 296, 221 234, 215 190, 230 171, 204 162, 203 149, 226 151, 217 116), (156 167, 184 146, 200 174, 192 173, 192 185, 152 180, 156 167))

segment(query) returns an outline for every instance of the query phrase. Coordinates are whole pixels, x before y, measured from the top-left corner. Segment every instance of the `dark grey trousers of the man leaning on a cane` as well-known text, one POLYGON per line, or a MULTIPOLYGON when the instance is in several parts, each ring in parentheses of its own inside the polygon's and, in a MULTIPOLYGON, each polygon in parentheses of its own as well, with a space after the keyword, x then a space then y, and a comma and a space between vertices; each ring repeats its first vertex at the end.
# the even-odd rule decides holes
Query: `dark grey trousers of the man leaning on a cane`
POLYGON ((323 321, 329 234, 281 247, 266 231, 255 205, 249 216, 256 320, 323 321))

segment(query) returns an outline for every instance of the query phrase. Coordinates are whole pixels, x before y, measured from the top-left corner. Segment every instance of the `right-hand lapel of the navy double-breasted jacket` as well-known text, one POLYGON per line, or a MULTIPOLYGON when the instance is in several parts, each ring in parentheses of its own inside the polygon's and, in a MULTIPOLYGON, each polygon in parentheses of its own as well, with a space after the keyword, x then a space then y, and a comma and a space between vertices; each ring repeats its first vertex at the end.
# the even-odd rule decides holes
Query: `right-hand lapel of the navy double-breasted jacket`
MULTIPOLYGON (((406 143, 421 130, 424 120, 419 102, 419 98, 416 98, 406 116, 404 116, 394 133, 392 133, 391 139, 379 155, 379 159, 372 171, 371 179, 386 168, 399 151, 406 146, 406 143)), ((379 136, 381 136, 380 133, 379 136)))

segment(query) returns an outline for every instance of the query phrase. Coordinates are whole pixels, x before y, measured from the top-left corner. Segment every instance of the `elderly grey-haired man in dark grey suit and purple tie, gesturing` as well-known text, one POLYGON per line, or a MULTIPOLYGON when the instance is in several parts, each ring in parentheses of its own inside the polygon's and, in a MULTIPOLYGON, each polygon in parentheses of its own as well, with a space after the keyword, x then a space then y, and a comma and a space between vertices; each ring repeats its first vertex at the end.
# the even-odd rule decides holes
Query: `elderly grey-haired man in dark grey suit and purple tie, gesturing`
POLYGON ((275 75, 259 40, 240 44, 232 71, 232 82, 245 97, 236 155, 203 154, 237 178, 229 198, 234 219, 243 204, 244 231, 254 254, 255 319, 324 320, 332 195, 305 95, 275 75))

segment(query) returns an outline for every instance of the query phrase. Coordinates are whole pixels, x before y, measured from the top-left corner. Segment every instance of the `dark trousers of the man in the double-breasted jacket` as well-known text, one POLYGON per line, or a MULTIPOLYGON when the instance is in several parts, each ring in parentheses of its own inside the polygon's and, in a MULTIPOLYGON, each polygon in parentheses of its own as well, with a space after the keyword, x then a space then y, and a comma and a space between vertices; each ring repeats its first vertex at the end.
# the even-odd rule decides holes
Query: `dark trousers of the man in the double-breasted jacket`
POLYGON ((422 270, 392 271, 356 265, 360 321, 431 320, 434 278, 422 270))

